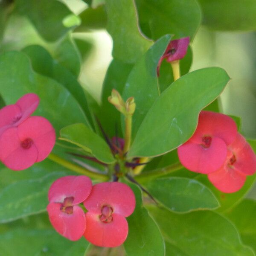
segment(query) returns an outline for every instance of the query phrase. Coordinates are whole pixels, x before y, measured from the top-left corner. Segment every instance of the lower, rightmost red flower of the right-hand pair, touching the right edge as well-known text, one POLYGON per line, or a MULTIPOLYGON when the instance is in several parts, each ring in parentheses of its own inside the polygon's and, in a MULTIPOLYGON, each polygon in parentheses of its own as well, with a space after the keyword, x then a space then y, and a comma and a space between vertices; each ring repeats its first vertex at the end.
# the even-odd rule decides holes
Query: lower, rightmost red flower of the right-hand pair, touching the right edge
POLYGON ((236 140, 228 146, 228 154, 223 166, 210 173, 210 182, 221 192, 233 193, 244 185, 246 175, 256 172, 256 156, 249 143, 237 133, 236 140))

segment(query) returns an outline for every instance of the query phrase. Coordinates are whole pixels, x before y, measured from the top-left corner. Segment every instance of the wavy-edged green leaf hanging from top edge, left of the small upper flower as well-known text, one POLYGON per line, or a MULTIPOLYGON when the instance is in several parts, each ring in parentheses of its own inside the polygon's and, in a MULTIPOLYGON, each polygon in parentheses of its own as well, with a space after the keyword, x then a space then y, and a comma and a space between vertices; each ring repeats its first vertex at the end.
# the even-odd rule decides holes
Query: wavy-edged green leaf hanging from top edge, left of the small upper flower
POLYGON ((106 0, 105 6, 107 30, 113 38, 113 58, 127 63, 136 62, 152 43, 140 34, 134 1, 106 0))

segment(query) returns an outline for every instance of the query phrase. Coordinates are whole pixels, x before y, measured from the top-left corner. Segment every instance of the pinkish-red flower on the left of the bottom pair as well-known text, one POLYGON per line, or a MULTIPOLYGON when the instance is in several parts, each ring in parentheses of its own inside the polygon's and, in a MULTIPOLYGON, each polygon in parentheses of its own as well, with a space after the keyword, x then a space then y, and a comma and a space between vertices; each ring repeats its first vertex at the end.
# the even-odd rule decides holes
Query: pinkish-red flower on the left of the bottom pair
POLYGON ((49 189, 47 211, 55 230, 62 236, 76 241, 85 230, 83 209, 78 206, 90 195, 92 182, 86 176, 66 176, 55 180, 49 189))

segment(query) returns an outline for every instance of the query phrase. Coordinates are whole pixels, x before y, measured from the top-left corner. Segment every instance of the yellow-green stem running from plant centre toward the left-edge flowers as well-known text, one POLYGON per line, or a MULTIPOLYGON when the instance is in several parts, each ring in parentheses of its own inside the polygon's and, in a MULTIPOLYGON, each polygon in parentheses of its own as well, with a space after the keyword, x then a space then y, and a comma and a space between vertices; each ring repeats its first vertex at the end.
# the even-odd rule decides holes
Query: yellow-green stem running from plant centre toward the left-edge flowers
POLYGON ((58 163, 59 165, 64 166, 67 169, 70 169, 73 172, 77 172, 79 174, 86 175, 90 178, 97 179, 97 180, 102 180, 102 181, 109 180, 108 175, 91 172, 91 171, 85 169, 84 167, 78 166, 74 163, 70 163, 69 161, 67 161, 63 158, 58 157, 57 155, 55 155, 53 153, 49 154, 48 158, 50 160, 52 160, 53 162, 58 163))

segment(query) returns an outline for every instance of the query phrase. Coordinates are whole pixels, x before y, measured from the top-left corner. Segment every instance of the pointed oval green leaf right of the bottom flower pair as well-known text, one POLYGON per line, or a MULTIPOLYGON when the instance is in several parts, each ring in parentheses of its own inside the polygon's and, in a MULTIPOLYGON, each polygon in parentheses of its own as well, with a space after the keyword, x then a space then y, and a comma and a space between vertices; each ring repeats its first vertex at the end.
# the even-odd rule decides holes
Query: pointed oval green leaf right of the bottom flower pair
POLYGON ((164 177, 143 183, 148 192, 174 212, 219 207, 215 195, 197 180, 183 177, 164 177))

